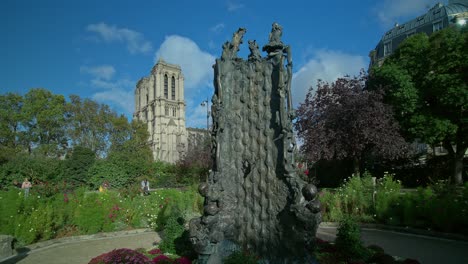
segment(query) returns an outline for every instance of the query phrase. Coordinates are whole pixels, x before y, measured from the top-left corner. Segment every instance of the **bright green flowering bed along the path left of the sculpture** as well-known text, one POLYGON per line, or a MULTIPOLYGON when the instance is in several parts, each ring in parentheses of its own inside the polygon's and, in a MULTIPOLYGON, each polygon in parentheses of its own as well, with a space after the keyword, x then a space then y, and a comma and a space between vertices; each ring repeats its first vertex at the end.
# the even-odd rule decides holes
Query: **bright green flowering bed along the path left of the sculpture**
MULTIPOLYGON (((49 197, 35 188, 28 198, 18 189, 0 191, 0 233, 12 235, 26 245, 64 235, 143 227, 161 230, 158 218, 167 219, 166 214, 173 210, 163 212, 165 207, 180 208, 187 218, 200 214, 196 201, 201 201, 201 197, 194 189, 124 197, 112 190, 97 193, 79 188, 69 192, 67 186, 59 187, 64 192, 54 192, 49 197), (173 199, 173 195, 177 197, 173 199)), ((165 223, 166 220, 161 221, 165 223)))

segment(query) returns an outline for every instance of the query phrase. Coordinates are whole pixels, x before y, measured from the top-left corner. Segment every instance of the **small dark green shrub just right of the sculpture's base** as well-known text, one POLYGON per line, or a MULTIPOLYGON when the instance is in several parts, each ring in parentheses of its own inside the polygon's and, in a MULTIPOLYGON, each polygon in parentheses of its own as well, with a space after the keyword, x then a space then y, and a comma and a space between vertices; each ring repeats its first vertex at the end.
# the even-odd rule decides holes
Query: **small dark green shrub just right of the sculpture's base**
POLYGON ((366 260, 370 257, 369 250, 361 241, 359 226, 351 217, 340 221, 335 244, 347 260, 366 260))

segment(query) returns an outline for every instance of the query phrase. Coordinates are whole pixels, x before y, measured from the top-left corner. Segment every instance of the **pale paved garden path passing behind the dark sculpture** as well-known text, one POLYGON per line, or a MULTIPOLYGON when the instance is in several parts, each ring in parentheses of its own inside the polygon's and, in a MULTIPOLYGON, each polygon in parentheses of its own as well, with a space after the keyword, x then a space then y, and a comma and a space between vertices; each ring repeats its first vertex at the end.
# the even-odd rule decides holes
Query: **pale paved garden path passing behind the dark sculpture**
MULTIPOLYGON (((366 245, 379 245, 390 255, 417 259, 422 264, 468 263, 467 241, 375 228, 362 228, 361 234, 366 245)), ((320 226, 317 231, 317 237, 321 239, 332 241, 335 236, 335 226, 320 226)), ((159 241, 158 234, 149 230, 63 238, 30 245, 29 251, 1 263, 86 264, 92 258, 113 249, 148 249, 159 241)))

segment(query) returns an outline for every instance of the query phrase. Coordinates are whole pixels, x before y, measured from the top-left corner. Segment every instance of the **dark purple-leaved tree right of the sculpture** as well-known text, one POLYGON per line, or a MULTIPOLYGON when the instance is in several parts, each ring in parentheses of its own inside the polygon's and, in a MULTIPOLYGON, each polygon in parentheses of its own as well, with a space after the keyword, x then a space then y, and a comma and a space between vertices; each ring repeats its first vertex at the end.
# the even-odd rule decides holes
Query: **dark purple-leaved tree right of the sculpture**
POLYGON ((361 72, 331 84, 319 80, 316 91, 310 88, 295 123, 306 158, 314 162, 350 158, 359 173, 365 155, 404 156, 407 146, 392 111, 380 91, 364 89, 366 80, 361 72))

